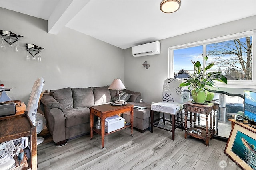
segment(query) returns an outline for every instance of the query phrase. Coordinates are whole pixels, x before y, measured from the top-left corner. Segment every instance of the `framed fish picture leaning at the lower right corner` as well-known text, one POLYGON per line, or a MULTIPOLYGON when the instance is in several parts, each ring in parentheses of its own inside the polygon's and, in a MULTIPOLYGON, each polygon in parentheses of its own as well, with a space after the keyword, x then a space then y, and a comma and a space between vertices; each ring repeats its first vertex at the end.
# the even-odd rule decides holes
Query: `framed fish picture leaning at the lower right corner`
POLYGON ((255 170, 256 133, 235 124, 224 153, 243 170, 255 170))

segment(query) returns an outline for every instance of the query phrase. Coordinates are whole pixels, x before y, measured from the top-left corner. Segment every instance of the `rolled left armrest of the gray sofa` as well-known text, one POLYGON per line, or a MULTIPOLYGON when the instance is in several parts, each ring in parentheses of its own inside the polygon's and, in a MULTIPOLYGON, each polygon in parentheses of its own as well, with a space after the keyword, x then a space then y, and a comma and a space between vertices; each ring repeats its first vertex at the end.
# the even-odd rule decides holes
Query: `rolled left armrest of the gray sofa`
POLYGON ((49 110, 53 109, 53 108, 60 109, 64 114, 64 118, 66 119, 66 117, 67 117, 66 107, 64 107, 62 104, 57 102, 52 96, 50 96, 50 94, 44 94, 41 98, 41 102, 49 110))

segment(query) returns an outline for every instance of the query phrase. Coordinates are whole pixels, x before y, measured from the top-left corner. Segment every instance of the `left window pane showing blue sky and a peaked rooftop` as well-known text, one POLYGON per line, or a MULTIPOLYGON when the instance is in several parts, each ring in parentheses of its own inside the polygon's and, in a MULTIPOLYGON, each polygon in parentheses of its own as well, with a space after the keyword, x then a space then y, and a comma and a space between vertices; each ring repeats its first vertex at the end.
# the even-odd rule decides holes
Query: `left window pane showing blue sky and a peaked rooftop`
POLYGON ((179 74, 183 71, 190 73, 194 72, 193 63, 191 60, 200 61, 203 65, 203 46, 189 47, 184 49, 177 49, 174 53, 174 77, 176 78, 188 78, 186 74, 179 74), (183 69, 183 70, 182 70, 183 69))

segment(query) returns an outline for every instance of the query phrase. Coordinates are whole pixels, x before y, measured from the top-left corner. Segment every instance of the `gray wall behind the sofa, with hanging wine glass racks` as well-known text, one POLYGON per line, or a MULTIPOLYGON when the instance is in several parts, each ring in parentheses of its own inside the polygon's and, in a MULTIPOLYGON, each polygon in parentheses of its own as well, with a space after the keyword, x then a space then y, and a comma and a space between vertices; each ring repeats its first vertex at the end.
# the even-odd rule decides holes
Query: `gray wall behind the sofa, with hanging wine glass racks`
MULTIPOLYGON (((23 35, 20 52, 0 50, 0 80, 13 100, 27 103, 34 81, 45 80, 43 90, 110 85, 124 80, 124 50, 64 27, 47 33, 47 21, 0 8, 0 29, 23 35), (26 43, 44 47, 42 62, 26 61, 26 43)), ((7 46, 7 44, 6 44, 7 46)))

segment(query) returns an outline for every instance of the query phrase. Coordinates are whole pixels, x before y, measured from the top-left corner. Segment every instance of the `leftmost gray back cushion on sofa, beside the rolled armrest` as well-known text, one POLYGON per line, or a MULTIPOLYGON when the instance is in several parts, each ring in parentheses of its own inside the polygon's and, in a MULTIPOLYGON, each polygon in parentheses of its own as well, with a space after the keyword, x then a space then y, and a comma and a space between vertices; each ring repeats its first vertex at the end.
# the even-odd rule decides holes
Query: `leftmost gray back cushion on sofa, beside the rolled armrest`
POLYGON ((62 88, 58 90, 50 90, 50 95, 66 109, 73 108, 73 98, 71 88, 62 88))

